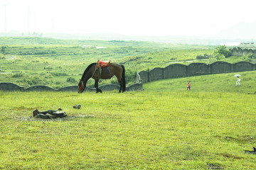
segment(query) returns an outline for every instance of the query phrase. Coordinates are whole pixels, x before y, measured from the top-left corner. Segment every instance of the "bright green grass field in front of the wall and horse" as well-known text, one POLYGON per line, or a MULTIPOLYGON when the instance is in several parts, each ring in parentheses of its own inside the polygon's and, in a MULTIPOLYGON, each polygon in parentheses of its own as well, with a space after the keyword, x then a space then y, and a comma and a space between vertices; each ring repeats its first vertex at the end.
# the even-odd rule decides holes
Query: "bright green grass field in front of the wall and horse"
POLYGON ((215 74, 123 94, 0 91, 0 169, 255 169, 256 72, 238 74, 241 86, 215 74))

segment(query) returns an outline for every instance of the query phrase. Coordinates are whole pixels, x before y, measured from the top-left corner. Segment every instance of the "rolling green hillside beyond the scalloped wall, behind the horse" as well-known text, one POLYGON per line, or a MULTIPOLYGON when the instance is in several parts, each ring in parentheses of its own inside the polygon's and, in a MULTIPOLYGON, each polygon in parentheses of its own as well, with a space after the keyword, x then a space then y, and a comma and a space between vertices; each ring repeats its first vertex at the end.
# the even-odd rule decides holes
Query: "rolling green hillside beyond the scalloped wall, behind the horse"
MULTIPOLYGON (((193 60, 213 47, 156 42, 0 38, 0 81, 19 86, 47 85, 55 89, 76 85, 85 68, 97 60, 124 64, 127 84, 137 72, 166 67, 170 62, 193 60)), ((100 84, 118 84, 117 79, 100 84)), ((89 81, 88 86, 94 82, 89 81)))

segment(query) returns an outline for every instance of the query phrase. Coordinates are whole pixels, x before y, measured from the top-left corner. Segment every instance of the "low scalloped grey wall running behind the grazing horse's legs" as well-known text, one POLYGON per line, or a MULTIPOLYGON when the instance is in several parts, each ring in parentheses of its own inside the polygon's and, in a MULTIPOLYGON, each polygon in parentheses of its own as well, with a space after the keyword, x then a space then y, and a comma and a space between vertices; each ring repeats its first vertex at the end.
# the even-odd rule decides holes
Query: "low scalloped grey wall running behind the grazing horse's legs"
MULTIPOLYGON (((115 84, 105 84, 102 86, 99 86, 102 91, 119 91, 119 86, 115 84)), ((142 84, 132 84, 130 86, 127 86, 127 91, 142 91, 143 85, 142 84)), ((27 89, 24 89, 21 86, 18 86, 17 84, 13 83, 0 83, 0 91, 78 91, 78 86, 66 86, 62 89, 53 89, 49 86, 31 86, 27 89)), ((96 91, 95 88, 86 87, 85 91, 96 91)))

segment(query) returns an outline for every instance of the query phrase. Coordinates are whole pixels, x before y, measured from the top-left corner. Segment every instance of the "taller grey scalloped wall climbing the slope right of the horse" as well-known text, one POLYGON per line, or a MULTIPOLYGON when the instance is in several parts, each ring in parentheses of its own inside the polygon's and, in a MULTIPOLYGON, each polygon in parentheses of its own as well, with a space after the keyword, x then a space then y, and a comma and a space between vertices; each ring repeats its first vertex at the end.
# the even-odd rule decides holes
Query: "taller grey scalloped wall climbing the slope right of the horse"
POLYGON ((178 77, 192 77, 206 74, 221 74, 229 72, 247 72, 256 70, 256 64, 250 62, 213 62, 212 64, 191 63, 188 65, 171 64, 164 68, 156 67, 149 72, 137 73, 137 82, 146 83, 159 79, 170 79, 178 77))

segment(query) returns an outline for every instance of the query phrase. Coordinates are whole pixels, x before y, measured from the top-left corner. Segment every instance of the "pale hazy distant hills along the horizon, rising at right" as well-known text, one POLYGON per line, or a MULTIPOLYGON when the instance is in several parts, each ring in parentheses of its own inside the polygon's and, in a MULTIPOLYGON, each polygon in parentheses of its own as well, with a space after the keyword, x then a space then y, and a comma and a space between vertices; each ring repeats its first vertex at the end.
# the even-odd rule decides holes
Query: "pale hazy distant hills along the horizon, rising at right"
POLYGON ((165 35, 165 36, 128 36, 116 33, 90 33, 90 34, 68 34, 68 33, 20 33, 11 31, 0 33, 0 37, 41 37, 56 38, 62 40, 124 40, 124 41, 149 41, 167 42, 174 44, 193 44, 193 45, 220 45, 227 42, 254 42, 256 41, 256 22, 238 23, 214 37, 199 37, 185 35, 165 35))

